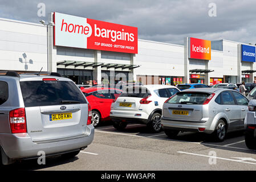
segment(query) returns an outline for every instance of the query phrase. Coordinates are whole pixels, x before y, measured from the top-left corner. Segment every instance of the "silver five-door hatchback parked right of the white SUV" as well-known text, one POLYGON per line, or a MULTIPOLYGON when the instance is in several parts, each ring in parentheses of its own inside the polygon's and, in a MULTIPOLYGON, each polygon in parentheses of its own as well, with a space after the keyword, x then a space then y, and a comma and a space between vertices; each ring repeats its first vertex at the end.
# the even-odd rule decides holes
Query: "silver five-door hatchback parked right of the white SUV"
POLYGON ((180 131, 195 131, 222 141, 227 132, 244 129, 248 102, 230 89, 183 90, 166 100, 161 123, 168 137, 180 131))

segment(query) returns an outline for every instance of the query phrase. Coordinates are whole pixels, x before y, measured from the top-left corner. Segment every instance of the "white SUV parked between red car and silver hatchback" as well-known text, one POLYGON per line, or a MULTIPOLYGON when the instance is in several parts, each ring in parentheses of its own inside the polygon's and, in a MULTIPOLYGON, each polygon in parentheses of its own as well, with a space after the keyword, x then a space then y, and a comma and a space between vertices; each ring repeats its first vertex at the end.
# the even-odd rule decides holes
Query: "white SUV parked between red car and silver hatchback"
POLYGON ((110 118, 117 130, 128 123, 145 124, 154 132, 161 130, 161 114, 164 102, 177 92, 175 86, 130 86, 112 103, 110 118))

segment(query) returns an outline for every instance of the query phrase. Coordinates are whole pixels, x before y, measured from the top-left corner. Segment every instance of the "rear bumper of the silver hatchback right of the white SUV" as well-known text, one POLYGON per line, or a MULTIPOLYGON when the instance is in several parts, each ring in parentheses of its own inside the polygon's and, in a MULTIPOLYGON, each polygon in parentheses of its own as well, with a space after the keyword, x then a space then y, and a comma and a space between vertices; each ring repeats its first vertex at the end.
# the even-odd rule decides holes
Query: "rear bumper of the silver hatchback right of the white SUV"
POLYGON ((177 119, 161 118, 161 124, 164 129, 203 132, 208 134, 211 134, 214 131, 214 129, 211 128, 212 121, 212 118, 206 118, 205 120, 200 121, 178 121, 177 119), (199 131, 199 128, 205 130, 199 131))

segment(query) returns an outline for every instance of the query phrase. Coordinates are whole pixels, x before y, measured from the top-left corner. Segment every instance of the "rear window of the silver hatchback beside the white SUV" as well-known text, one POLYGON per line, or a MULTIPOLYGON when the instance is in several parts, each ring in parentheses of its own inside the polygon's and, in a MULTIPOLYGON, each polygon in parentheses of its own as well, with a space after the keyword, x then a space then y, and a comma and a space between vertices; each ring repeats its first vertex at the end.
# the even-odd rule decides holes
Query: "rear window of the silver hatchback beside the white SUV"
POLYGON ((209 96, 209 93, 203 92, 178 92, 167 103, 202 105, 209 96))

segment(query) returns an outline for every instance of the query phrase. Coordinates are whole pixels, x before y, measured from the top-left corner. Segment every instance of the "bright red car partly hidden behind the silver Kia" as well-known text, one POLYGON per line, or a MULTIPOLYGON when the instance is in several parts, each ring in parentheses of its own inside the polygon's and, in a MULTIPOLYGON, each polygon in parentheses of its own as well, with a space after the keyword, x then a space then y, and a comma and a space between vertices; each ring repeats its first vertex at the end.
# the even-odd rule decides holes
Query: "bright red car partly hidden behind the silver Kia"
POLYGON ((120 96, 122 90, 115 88, 82 88, 92 109, 92 125, 97 126, 101 121, 109 120, 112 102, 120 96))

